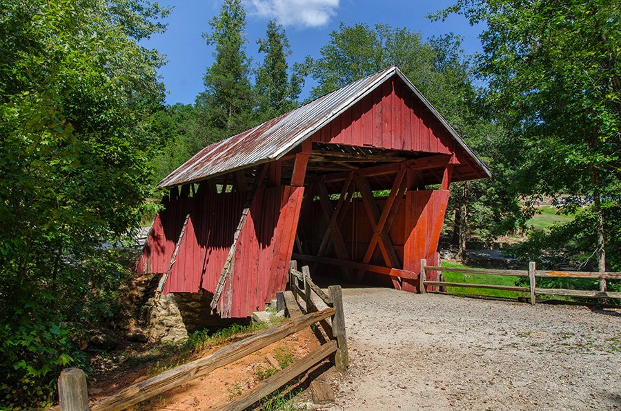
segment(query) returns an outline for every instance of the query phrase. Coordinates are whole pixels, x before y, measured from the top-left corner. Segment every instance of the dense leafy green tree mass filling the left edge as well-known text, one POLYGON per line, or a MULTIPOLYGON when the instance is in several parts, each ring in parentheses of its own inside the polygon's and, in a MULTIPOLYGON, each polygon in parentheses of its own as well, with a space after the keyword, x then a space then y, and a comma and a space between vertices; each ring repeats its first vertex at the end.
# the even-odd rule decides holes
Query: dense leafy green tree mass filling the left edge
MULTIPOLYGON (((148 1, 0 3, 0 408, 38 405, 106 318, 119 243, 148 206, 164 31, 148 1)), ((113 295, 113 294, 112 294, 113 295)))

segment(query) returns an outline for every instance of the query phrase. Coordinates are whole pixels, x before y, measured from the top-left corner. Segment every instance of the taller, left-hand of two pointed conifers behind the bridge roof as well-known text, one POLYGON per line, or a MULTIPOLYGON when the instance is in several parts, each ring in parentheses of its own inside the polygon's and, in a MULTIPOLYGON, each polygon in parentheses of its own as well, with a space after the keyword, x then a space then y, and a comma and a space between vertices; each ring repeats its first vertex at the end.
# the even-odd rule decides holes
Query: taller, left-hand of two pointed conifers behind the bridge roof
POLYGON ((206 130, 204 144, 242 132, 253 122, 255 104, 250 88, 246 43, 246 12, 241 0, 225 0, 218 17, 204 34, 207 44, 215 48, 215 62, 204 76, 205 91, 196 98, 199 121, 206 130))

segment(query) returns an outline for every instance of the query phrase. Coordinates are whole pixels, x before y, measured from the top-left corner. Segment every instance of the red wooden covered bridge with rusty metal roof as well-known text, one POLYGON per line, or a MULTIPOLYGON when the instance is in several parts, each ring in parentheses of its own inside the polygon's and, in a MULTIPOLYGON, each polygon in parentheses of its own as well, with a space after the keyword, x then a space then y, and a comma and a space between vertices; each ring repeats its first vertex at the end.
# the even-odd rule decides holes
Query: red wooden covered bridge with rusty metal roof
POLYGON ((162 180, 170 195, 138 270, 163 274, 164 293, 213 293, 223 318, 263 310, 292 257, 313 274, 414 292, 420 260, 437 261, 451 181, 489 175, 387 68, 213 143, 162 180))

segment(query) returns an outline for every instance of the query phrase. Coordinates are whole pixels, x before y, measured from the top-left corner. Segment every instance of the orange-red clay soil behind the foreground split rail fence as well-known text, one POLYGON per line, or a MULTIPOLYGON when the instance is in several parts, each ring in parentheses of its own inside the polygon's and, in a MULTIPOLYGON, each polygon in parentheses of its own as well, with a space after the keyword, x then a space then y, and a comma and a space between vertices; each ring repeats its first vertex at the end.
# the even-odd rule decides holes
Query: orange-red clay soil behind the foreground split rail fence
MULTIPOLYGON (((239 394, 247 392, 255 387, 259 380, 255 376, 257 368, 270 368, 266 354, 273 354, 278 350, 288 349, 293 354, 294 361, 319 347, 320 343, 310 328, 268 345, 266 348, 250 354, 243 359, 230 363, 225 367, 218 368, 209 374, 190 381, 178 388, 160 394, 148 401, 135 405, 132 410, 209 410, 218 405, 224 405, 239 394)), ((200 357, 215 352, 222 346, 212 348, 200 357)), ((91 400, 97 401, 108 395, 125 388, 133 383, 143 381, 152 375, 146 375, 151 365, 145 365, 141 369, 131 370, 115 381, 100 383, 90 387, 90 391, 97 394, 91 400), (101 391, 99 391, 101 390, 101 391)))

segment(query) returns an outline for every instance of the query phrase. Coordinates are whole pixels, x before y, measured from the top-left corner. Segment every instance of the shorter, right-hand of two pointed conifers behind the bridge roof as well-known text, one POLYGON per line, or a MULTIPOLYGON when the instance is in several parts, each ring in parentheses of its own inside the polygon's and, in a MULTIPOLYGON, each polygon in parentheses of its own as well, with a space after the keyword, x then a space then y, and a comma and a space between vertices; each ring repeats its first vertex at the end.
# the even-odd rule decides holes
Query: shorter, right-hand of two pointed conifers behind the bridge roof
POLYGON ((301 66, 295 65, 289 76, 287 57, 291 48, 282 26, 269 21, 266 38, 259 39, 259 52, 265 59, 257 70, 257 101, 259 117, 268 120, 297 106, 297 97, 302 91, 304 74, 301 66))

